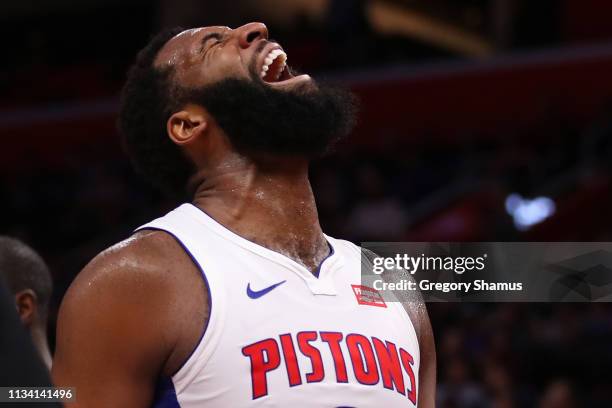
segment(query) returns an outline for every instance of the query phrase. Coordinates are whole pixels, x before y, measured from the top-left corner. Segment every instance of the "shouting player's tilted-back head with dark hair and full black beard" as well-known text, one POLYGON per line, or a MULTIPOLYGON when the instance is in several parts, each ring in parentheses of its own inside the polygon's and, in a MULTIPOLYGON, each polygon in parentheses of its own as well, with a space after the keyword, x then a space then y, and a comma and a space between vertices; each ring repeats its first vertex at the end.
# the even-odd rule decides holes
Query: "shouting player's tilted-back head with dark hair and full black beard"
POLYGON ((184 193, 196 170, 221 161, 223 141, 254 160, 325 153, 351 130, 354 98, 293 74, 286 61, 260 23, 159 34, 123 91, 119 125, 136 167, 184 193))

